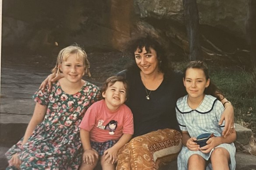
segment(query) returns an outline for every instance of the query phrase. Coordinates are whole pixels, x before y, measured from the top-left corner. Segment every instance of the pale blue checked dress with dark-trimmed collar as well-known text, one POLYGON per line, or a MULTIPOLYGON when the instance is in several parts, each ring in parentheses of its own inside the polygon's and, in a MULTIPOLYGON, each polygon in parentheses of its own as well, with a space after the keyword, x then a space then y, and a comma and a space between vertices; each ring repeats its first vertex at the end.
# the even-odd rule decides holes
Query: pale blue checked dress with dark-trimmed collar
MULTIPOLYGON (((224 107, 216 97, 211 95, 205 95, 202 104, 198 108, 192 110, 187 103, 188 95, 178 99, 176 104, 176 117, 179 123, 179 127, 182 131, 188 131, 191 137, 197 137, 203 133, 213 133, 214 136, 221 136, 224 129, 224 123, 218 125, 220 116, 224 111, 224 107)), ((235 170, 235 145, 220 144, 217 147, 223 147, 228 150, 230 154, 231 163, 229 164, 230 170, 235 170)), ((215 147, 215 148, 217 148, 215 147)), ((193 154, 201 155, 205 160, 210 159, 210 153, 202 153, 201 151, 191 151, 187 147, 182 146, 181 152, 178 155, 178 170, 188 169, 188 158, 193 154)), ((211 170, 212 166, 209 165, 206 168, 211 170)))

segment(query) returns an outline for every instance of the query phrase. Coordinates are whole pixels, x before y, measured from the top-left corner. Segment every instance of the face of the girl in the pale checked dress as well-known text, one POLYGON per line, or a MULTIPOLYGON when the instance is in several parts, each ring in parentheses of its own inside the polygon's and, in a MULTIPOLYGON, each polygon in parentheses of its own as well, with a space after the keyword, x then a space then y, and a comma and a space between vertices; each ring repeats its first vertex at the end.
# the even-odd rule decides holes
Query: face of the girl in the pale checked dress
POLYGON ((184 86, 188 95, 193 98, 203 97, 203 92, 210 84, 210 79, 206 80, 206 76, 202 69, 189 68, 186 70, 183 79, 184 86))

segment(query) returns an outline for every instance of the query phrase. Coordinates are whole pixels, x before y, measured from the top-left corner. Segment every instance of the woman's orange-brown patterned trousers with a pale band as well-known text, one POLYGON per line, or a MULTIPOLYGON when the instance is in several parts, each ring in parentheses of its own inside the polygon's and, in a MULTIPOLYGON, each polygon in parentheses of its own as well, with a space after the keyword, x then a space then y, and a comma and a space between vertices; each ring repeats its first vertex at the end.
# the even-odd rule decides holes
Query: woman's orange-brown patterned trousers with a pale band
POLYGON ((133 138, 120 149, 117 170, 157 170, 176 160, 181 150, 181 134, 173 129, 157 130, 133 138))

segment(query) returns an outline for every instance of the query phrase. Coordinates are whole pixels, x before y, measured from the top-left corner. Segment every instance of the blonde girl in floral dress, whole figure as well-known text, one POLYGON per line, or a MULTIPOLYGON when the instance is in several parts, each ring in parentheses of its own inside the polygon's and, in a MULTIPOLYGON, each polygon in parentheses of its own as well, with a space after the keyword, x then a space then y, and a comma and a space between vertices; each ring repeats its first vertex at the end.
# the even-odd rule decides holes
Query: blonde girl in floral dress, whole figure
POLYGON ((62 49, 53 73, 63 78, 52 91, 39 89, 33 96, 35 111, 24 137, 6 153, 7 169, 78 169, 82 144, 78 125, 99 88, 82 80, 89 73, 85 51, 78 46, 62 49))

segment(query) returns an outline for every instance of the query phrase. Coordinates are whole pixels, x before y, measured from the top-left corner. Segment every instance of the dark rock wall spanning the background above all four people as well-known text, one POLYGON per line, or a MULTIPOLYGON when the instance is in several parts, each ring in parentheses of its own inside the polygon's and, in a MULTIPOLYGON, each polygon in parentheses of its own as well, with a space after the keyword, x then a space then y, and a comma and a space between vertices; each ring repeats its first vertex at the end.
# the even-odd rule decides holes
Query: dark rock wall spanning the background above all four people
MULTIPOLYGON (((3 46, 34 51, 74 42, 91 50, 121 50, 141 34, 162 38, 178 59, 188 56, 182 0, 3 0, 3 46)), ((246 62, 249 0, 197 0, 203 54, 246 62)))

